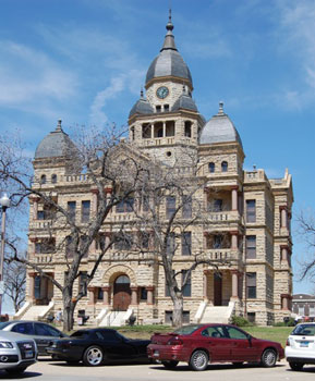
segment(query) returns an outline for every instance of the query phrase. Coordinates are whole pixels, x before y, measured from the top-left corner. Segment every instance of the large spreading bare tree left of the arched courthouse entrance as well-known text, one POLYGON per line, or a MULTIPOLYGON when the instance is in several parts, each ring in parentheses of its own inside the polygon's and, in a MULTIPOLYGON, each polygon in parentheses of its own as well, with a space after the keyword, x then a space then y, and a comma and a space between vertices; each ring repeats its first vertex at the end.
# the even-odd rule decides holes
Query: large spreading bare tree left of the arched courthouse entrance
POLYGON ((44 251, 50 254, 46 267, 53 263, 56 256, 61 255, 61 260, 66 266, 64 283, 49 275, 45 271, 45 266, 39 265, 29 253, 27 258, 23 258, 15 250, 10 260, 34 269, 41 276, 50 279, 60 290, 63 300, 63 329, 66 331, 73 327, 74 309, 78 300, 85 296, 87 285, 94 279, 105 254, 112 247, 123 226, 117 229, 117 233, 111 234, 106 244, 100 245, 92 269, 84 278, 81 287, 75 291, 74 285, 81 274, 82 260, 88 256, 90 245, 99 237, 104 222, 112 208, 134 193, 140 177, 141 169, 128 145, 120 143, 120 138, 121 133, 117 132, 114 126, 106 131, 89 128, 88 133, 77 134, 76 146, 68 147, 63 162, 68 167, 69 175, 85 176, 87 189, 97 193, 98 200, 94 214, 84 224, 73 218, 73 211, 61 205, 51 190, 45 189, 40 179, 33 176, 29 160, 25 159, 19 145, 12 147, 8 144, 9 140, 0 142, 0 180, 3 184, 10 184, 14 190, 11 196, 13 206, 17 207, 28 198, 36 197, 46 208, 49 238, 44 243, 44 251), (56 226, 60 232, 64 232, 64 235, 66 233, 66 237, 58 245, 53 239, 56 226))

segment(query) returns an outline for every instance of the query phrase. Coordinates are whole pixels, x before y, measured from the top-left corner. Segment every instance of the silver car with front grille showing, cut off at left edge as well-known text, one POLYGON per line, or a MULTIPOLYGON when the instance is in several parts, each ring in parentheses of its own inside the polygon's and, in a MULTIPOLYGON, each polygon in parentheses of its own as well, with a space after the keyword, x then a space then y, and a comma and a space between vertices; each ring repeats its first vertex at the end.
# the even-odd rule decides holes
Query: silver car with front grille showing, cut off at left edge
POLYGON ((37 347, 33 339, 22 334, 0 331, 0 369, 8 373, 23 373, 37 361, 37 347))

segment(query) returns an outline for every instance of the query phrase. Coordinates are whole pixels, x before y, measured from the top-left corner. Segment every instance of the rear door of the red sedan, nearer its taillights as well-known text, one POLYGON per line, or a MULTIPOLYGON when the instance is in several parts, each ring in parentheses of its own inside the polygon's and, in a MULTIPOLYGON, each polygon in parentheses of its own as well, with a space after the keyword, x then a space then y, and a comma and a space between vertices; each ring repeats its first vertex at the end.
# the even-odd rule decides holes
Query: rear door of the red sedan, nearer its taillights
POLYGON ((210 354, 210 361, 226 361, 231 357, 231 342, 221 325, 211 325, 201 332, 201 344, 210 354))

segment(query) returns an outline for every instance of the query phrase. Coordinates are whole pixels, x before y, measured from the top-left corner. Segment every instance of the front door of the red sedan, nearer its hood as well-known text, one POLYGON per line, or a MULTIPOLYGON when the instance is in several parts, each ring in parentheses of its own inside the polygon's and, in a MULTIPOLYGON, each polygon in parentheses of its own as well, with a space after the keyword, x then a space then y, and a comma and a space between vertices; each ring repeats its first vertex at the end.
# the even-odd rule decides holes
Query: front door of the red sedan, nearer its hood
POLYGON ((246 332, 229 325, 226 330, 230 340, 231 361, 252 361, 257 358, 257 348, 252 345, 251 336, 246 332))

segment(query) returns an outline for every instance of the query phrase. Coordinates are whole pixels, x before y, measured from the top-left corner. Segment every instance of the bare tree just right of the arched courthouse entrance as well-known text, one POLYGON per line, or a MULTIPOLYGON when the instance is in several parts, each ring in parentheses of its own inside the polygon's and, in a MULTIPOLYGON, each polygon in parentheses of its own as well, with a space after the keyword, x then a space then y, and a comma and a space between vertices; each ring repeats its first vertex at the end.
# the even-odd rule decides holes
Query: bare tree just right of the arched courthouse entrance
POLYGON ((129 226, 136 238, 124 235, 126 242, 131 242, 130 247, 143 255, 149 254, 146 259, 163 269, 175 327, 182 325, 183 294, 196 267, 206 265, 218 271, 220 266, 229 262, 227 258, 208 257, 204 249, 203 226, 209 225, 209 221, 203 197, 208 184, 207 179, 197 175, 199 171, 194 157, 186 159, 186 165, 178 162, 171 167, 160 162, 143 163, 135 190, 136 219, 133 226, 129 226), (196 230, 202 232, 202 238, 195 235, 192 241, 192 231, 196 230), (180 250, 187 256, 184 268, 179 268, 177 260, 180 250))

